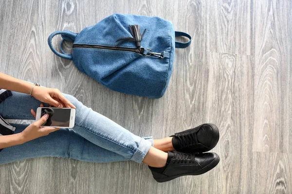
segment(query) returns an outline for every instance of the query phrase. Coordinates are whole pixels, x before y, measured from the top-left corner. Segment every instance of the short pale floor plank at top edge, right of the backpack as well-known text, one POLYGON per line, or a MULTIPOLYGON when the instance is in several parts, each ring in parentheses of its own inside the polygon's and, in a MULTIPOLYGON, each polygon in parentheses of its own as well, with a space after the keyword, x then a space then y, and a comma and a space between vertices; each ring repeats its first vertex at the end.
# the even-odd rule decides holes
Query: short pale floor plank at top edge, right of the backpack
POLYGON ((207 51, 252 55, 253 3, 253 0, 202 1, 207 51))

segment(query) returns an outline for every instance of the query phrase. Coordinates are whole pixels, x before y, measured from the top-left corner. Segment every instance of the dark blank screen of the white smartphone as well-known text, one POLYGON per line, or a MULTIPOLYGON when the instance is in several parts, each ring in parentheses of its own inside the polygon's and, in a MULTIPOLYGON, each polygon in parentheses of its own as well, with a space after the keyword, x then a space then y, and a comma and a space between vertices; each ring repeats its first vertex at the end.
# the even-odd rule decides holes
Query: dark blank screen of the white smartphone
POLYGON ((69 127, 71 109, 42 108, 40 117, 46 113, 49 118, 42 126, 69 127))

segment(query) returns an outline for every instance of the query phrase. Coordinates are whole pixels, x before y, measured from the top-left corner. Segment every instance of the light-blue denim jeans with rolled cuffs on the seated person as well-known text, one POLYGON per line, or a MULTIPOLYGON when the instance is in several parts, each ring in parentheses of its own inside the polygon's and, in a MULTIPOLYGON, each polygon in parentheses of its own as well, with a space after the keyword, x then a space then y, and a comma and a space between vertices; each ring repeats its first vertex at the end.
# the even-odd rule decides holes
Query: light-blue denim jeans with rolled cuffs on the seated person
MULTIPOLYGON (((36 111, 41 102, 27 94, 12 93, 12 97, 0 103, 0 115, 6 119, 35 119, 30 109, 36 111)), ((153 146, 152 137, 136 136, 75 97, 63 95, 76 106, 74 128, 61 128, 22 145, 6 147, 0 152, 0 164, 44 156, 86 162, 143 161, 153 146)), ((12 125, 16 127, 15 133, 27 127, 12 125)))

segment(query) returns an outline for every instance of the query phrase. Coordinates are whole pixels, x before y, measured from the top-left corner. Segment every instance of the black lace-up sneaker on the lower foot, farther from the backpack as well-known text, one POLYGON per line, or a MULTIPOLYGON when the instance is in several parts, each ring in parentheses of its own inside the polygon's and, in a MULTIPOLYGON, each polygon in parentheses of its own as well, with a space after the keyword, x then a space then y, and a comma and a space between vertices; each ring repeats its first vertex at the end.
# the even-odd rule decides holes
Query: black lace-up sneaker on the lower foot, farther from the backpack
POLYGON ((186 175, 201 175, 214 168, 220 161, 216 153, 185 154, 168 152, 166 165, 162 168, 148 166, 157 182, 166 182, 186 175))

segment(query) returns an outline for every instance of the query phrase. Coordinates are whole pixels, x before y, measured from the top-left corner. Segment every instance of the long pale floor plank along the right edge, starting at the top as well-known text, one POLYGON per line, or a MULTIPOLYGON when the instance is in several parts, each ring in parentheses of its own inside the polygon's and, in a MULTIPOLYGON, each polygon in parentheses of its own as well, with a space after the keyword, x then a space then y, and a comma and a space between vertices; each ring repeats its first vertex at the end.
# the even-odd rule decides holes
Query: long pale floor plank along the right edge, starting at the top
POLYGON ((292 153, 289 8, 286 0, 255 4, 254 151, 292 153))

